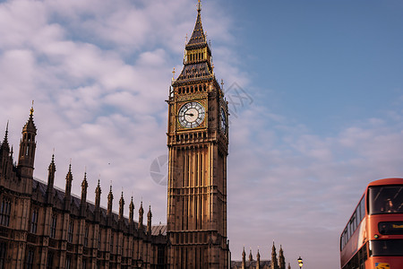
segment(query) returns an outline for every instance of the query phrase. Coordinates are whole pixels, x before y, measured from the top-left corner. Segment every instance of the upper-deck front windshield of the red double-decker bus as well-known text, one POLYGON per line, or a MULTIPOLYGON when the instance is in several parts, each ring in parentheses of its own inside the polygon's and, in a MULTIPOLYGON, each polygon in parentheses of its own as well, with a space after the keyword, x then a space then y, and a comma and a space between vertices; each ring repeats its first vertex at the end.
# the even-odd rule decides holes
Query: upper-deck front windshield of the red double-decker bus
POLYGON ((369 213, 403 213, 403 186, 376 186, 369 188, 369 213))

